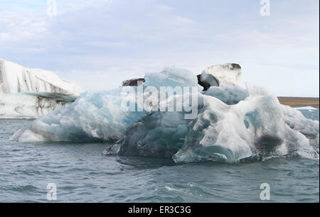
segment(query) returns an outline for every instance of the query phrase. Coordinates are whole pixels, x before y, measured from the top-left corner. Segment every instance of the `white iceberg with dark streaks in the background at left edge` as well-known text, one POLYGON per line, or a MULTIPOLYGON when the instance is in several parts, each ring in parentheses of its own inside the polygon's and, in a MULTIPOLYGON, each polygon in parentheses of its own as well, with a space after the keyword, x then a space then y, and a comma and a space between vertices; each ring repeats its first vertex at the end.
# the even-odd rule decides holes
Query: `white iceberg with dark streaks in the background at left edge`
POLYGON ((0 118, 38 118, 75 101, 81 91, 53 72, 0 60, 0 118))

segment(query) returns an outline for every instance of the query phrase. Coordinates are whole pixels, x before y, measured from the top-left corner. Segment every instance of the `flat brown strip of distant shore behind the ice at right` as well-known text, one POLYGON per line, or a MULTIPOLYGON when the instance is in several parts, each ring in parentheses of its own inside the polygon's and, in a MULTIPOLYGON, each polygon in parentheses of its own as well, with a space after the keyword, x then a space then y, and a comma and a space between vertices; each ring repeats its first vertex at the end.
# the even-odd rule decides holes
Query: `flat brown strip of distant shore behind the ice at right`
POLYGON ((311 106, 314 109, 319 109, 319 97, 289 97, 279 96, 280 104, 291 106, 293 108, 311 106))

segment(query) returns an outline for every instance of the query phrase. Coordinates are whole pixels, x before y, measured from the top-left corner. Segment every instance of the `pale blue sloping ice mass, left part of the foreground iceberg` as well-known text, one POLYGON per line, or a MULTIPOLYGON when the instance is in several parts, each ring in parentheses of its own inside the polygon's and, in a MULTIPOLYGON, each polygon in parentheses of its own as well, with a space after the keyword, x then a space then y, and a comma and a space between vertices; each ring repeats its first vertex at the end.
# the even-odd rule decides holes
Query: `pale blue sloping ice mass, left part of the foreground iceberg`
POLYGON ((33 121, 31 126, 18 130, 11 140, 21 143, 114 142, 145 114, 121 109, 124 100, 136 104, 132 87, 83 93, 67 108, 56 109, 33 121), (129 94, 123 94, 127 90, 129 94))

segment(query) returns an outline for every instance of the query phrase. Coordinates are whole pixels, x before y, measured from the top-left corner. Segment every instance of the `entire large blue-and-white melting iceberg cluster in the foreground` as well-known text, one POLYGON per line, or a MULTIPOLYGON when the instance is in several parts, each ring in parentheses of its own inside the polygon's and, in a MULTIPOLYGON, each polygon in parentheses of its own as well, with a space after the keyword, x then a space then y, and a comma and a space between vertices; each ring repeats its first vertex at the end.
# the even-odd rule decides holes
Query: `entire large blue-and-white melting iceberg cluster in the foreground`
MULTIPOLYGON (((146 74, 145 79, 143 89, 197 85, 195 74, 176 68, 146 74)), ((200 89, 191 94, 198 99, 198 113, 191 120, 185 118, 184 110, 123 111, 120 109, 123 99, 137 103, 134 101, 137 87, 127 95, 122 92, 129 92, 129 87, 121 87, 82 94, 68 108, 38 118, 11 140, 117 141, 103 154, 172 157, 176 163, 238 162, 284 156, 319 159, 319 121, 282 106, 269 91, 231 84, 208 91, 200 89)), ((159 107, 169 107, 172 101, 179 106, 181 97, 169 96, 159 107)))

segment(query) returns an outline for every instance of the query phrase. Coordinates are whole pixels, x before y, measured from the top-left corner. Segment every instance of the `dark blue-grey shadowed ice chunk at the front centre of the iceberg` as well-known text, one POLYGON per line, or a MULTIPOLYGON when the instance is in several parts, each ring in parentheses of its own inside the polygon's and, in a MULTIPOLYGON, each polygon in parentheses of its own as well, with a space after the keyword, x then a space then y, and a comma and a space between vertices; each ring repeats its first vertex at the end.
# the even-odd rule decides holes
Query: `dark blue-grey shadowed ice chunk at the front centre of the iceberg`
MULTIPOLYGON (((193 97, 182 95, 170 96, 168 102, 161 102, 160 110, 170 108, 172 105, 183 108, 182 105, 189 104, 189 99, 198 98, 198 110, 203 109, 202 94, 194 94, 193 97), (182 100, 185 98, 187 101, 182 100), (171 102, 176 101, 174 105, 171 102)), ((119 155, 145 156, 145 157, 172 157, 183 145, 188 133, 190 119, 185 118, 185 109, 182 111, 161 112, 153 111, 141 120, 133 123, 127 130, 126 135, 117 141, 114 146, 103 152, 104 155, 113 155, 117 150, 119 155)))

